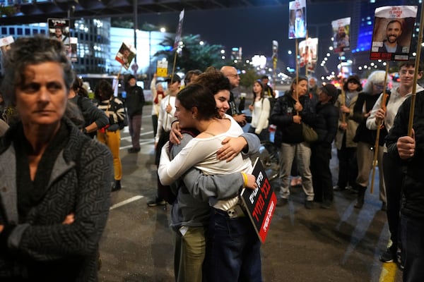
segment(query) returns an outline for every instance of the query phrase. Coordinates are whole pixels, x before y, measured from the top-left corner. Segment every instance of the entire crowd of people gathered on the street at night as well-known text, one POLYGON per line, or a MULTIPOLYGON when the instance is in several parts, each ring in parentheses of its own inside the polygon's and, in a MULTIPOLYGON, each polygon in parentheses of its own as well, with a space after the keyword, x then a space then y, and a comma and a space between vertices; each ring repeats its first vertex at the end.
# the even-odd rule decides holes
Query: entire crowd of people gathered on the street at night
MULTIPOLYGON (((91 101, 64 44, 42 36, 16 40, 4 66, 0 105, 2 113, 13 106, 16 117, 2 115, 0 123, 6 186, 0 191, 0 280, 45 281, 48 274, 47 281, 96 281, 110 192, 122 189, 120 130, 129 126, 128 153, 140 152, 143 89, 129 75, 124 103, 102 80, 91 101)), ((235 102, 240 75, 233 66, 192 70, 184 80, 172 74, 158 82, 154 75, 158 175, 147 204, 171 204, 175 280, 262 281, 261 243, 240 190, 257 188, 251 157, 261 142, 271 142, 270 125, 279 151, 277 207, 301 185, 307 209, 316 203, 331 208, 334 191, 355 192, 355 208, 363 209, 378 164, 391 235, 380 259, 399 262, 405 281, 423 277, 424 89, 413 85, 414 75, 422 76, 415 68, 413 61, 400 63, 399 86, 392 89, 384 71, 370 73, 364 85, 351 75, 340 90, 299 76, 279 97, 265 76, 252 83, 247 110, 245 99, 235 102), (418 111, 407 136, 413 87, 418 111), (333 146, 337 183, 329 165, 333 146), (296 176, 301 180, 293 184, 296 176)))

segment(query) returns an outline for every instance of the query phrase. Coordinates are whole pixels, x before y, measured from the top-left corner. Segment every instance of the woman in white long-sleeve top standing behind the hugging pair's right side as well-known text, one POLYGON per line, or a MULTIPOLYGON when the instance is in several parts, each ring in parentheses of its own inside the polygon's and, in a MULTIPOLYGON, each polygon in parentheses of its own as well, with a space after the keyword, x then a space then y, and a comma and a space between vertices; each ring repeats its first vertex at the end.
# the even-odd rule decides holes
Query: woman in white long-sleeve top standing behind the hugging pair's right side
POLYGON ((269 141, 268 118, 271 104, 265 97, 264 87, 259 80, 253 84, 253 95, 253 102, 249 105, 249 110, 252 112, 249 133, 258 135, 261 141, 269 141))

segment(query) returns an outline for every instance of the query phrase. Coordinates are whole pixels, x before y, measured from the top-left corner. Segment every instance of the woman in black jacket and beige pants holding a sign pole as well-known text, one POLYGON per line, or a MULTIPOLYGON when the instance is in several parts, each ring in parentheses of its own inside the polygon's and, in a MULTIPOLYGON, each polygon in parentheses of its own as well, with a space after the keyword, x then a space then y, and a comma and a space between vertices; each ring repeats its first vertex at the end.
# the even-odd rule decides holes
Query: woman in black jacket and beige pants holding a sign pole
POLYGON ((305 207, 312 209, 314 189, 310 171, 311 148, 302 135, 302 123, 312 124, 314 109, 310 98, 306 95, 307 78, 299 77, 293 80, 290 90, 278 97, 271 111, 271 123, 276 125, 275 144, 281 148, 280 159, 280 199, 277 206, 288 202, 290 195, 289 178, 296 158, 298 171, 302 176, 302 188, 306 195, 305 207))

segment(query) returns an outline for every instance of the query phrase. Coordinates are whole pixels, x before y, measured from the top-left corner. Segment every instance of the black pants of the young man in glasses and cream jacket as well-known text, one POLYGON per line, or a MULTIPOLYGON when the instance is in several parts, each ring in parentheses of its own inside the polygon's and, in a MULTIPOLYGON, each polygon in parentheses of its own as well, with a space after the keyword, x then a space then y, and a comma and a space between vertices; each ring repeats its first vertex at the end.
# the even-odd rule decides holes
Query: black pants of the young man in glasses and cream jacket
POLYGON ((396 250, 401 246, 400 219, 402 181, 404 175, 398 162, 391 159, 389 154, 383 154, 384 183, 387 197, 387 223, 389 223, 390 239, 396 250))

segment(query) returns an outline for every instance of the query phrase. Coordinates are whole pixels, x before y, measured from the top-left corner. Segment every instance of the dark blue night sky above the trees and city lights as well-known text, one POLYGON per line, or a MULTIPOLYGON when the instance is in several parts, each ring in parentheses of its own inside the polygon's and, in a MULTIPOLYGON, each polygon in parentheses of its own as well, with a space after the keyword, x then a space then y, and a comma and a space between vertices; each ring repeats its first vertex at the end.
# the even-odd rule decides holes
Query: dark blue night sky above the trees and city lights
MULTIPOLYGON (((307 29, 310 37, 319 36, 319 44, 331 44, 331 20, 349 16, 348 4, 310 4, 307 6, 307 29), (329 11, 334 11, 331 16, 329 11)), ((139 23, 165 25, 175 29, 178 13, 146 15, 139 23)), ((172 30, 174 32, 174 30, 172 30)), ((243 57, 272 55, 272 40, 279 44, 278 57, 295 49, 295 39, 288 39, 288 4, 261 8, 232 8, 208 11, 185 11, 182 34, 201 35, 208 44, 222 44, 227 52, 242 47, 243 57)), ((298 39, 299 42, 302 39, 298 39)), ((228 53, 227 53, 228 54, 228 53)))

